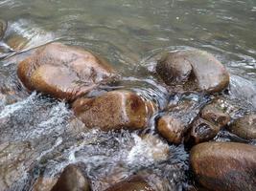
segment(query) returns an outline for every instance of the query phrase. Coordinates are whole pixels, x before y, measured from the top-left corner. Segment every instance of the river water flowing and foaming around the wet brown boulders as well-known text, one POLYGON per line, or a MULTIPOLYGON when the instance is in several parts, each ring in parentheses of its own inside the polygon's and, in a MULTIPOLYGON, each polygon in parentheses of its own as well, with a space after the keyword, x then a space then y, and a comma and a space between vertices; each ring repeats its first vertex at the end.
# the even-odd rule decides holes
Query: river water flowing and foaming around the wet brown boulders
MULTIPOLYGON (((231 74, 223 104, 233 117, 256 111, 254 0, 0 0, 0 18, 8 21, 0 42, 0 185, 9 190, 34 190, 39 178, 54 179, 75 162, 95 191, 137 172, 157 190, 192 184, 187 149, 159 138, 154 118, 144 132, 103 133, 86 129, 64 102, 29 95, 17 80, 17 63, 49 42, 101 54, 123 75, 104 89, 135 91, 159 111, 177 99, 200 104, 207 97, 170 96, 153 73, 156 60, 177 49, 205 50, 231 74)), ((215 138, 231 139, 245 141, 226 131, 215 138)))

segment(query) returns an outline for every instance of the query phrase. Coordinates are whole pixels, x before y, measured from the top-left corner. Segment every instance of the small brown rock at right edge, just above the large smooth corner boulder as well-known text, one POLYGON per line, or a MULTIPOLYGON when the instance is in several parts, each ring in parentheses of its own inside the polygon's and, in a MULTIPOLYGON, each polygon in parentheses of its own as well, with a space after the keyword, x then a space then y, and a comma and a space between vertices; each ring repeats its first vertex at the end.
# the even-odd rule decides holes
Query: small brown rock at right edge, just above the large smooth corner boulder
POLYGON ((237 119, 228 129, 245 139, 256 139, 256 115, 246 115, 237 119))

